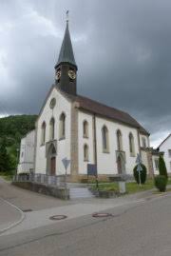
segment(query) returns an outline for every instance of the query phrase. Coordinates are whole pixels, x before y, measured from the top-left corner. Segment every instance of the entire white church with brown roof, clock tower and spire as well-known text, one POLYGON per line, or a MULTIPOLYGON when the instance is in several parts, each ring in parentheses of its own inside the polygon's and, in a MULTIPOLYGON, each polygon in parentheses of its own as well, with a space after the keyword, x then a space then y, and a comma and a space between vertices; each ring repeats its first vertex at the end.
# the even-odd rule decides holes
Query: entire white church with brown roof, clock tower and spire
POLYGON ((87 175, 87 164, 97 167, 101 178, 132 175, 137 153, 148 174, 153 175, 153 154, 149 133, 128 113, 107 107, 77 93, 77 65, 68 22, 55 84, 48 92, 36 122, 34 172, 64 175, 62 160, 67 158, 68 181, 87 175))

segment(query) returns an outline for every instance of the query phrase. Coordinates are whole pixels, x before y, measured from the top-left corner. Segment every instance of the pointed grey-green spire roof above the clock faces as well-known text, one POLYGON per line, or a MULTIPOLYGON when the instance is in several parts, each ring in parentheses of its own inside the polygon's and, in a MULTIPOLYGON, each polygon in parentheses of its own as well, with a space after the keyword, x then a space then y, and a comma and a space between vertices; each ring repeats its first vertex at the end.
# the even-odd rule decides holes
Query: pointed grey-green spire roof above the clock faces
POLYGON ((73 49, 72 49, 71 40, 70 40, 68 22, 66 22, 66 32, 65 32, 65 36, 63 39, 62 47, 60 50, 60 54, 59 54, 59 58, 56 66, 58 66, 60 63, 65 63, 65 62, 70 63, 77 67, 75 58, 74 58, 73 49))

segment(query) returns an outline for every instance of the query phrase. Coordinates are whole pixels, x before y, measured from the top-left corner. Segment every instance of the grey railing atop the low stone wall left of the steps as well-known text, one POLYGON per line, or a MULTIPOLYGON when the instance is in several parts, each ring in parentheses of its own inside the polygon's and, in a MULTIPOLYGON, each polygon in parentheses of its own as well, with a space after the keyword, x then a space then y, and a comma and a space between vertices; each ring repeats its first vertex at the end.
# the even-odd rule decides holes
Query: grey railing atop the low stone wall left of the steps
POLYGON ((32 182, 48 186, 62 187, 66 185, 66 176, 52 176, 47 174, 17 174, 13 176, 13 182, 32 182))

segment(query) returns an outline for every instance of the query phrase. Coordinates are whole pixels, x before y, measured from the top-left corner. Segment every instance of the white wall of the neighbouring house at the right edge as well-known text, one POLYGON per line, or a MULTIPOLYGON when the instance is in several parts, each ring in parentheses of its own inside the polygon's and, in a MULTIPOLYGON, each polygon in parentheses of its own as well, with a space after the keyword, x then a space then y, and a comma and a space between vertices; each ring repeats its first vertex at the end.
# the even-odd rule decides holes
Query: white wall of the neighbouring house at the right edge
POLYGON ((164 161, 165 161, 165 165, 166 165, 166 168, 167 168, 167 172, 170 172, 170 173, 171 173, 171 167, 170 167, 171 157, 169 157, 168 149, 171 149, 171 136, 168 137, 168 139, 165 140, 165 141, 161 144, 161 147, 160 147, 160 151, 161 151, 161 152, 164 152, 163 158, 164 158, 164 161))

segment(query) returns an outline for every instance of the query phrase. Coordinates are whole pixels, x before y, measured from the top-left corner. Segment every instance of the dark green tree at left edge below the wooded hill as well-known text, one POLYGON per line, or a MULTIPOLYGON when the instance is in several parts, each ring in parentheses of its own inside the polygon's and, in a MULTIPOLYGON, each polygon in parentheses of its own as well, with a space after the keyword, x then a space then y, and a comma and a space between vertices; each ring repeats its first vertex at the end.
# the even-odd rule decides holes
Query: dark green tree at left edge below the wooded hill
POLYGON ((0 144, 0 172, 10 170, 10 156, 6 148, 6 139, 3 138, 0 144))

